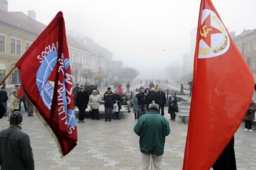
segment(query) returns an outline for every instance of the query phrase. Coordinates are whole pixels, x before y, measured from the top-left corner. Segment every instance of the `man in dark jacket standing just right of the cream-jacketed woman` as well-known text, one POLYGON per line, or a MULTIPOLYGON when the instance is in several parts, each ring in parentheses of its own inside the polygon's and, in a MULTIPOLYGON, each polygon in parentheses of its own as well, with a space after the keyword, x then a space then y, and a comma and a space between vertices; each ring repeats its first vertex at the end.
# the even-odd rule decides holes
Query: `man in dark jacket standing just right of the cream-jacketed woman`
POLYGON ((115 103, 114 93, 111 92, 111 88, 108 87, 108 91, 104 93, 104 107, 105 107, 105 122, 111 122, 111 115, 113 110, 113 105, 115 103))

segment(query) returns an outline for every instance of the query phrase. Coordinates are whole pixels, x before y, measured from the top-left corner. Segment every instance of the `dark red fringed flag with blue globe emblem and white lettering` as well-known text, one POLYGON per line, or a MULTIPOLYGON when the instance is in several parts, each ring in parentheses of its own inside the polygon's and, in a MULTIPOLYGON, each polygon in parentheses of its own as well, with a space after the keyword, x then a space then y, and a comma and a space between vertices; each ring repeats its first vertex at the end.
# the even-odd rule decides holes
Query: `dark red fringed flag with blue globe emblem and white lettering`
POLYGON ((24 92, 51 127, 65 156, 77 141, 69 51, 62 12, 16 63, 24 92))

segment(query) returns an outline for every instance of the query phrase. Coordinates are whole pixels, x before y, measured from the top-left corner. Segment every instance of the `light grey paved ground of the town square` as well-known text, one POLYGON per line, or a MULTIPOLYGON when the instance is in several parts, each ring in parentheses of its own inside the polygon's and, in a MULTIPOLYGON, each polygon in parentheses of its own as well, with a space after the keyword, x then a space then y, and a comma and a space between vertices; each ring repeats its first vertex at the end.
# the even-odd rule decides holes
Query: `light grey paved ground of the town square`
MULTIPOLYGON (((167 109, 167 108, 166 108, 167 109)), ((167 110, 165 110, 167 113, 167 110)), ((169 114, 165 114, 169 120, 169 114)), ((0 119, 0 129, 8 127, 7 118, 0 119)), ((78 145, 63 159, 56 144, 36 116, 24 114, 22 130, 30 135, 36 170, 139 170, 141 158, 139 137, 133 128, 133 113, 123 113, 121 120, 104 122, 85 119, 78 123, 78 145)), ((181 170, 187 124, 180 118, 169 120, 171 133, 166 138, 163 170, 181 170)), ((238 170, 256 169, 256 127, 253 133, 243 131, 244 123, 235 135, 238 170)), ((228 130, 228 129, 227 129, 228 130)), ((221 134, 220 134, 221 135, 221 134)), ((150 168, 151 169, 151 168, 150 168)))

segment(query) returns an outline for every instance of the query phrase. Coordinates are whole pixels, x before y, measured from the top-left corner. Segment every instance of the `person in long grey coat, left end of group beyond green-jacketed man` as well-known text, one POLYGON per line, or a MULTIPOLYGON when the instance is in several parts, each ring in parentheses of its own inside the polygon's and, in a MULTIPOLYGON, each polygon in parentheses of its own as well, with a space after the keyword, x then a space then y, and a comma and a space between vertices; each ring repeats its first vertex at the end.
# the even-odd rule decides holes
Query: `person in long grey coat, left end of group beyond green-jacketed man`
POLYGON ((138 116, 139 118, 141 115, 147 113, 147 93, 145 93, 145 89, 142 88, 140 93, 136 95, 138 99, 138 116))

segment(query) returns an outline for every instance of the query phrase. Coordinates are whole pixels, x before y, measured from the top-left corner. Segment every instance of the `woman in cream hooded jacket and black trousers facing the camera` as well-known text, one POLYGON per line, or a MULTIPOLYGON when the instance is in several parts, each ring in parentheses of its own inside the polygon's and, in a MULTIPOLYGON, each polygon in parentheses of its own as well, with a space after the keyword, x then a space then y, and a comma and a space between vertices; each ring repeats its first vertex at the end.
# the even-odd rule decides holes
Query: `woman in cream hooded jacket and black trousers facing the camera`
POLYGON ((102 100, 101 96, 98 94, 98 91, 94 90, 93 94, 89 97, 89 105, 91 106, 92 118, 95 120, 100 120, 99 107, 100 101, 102 100))

